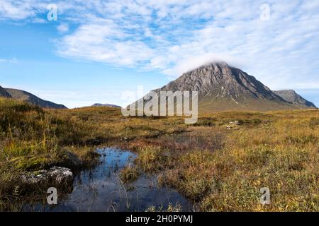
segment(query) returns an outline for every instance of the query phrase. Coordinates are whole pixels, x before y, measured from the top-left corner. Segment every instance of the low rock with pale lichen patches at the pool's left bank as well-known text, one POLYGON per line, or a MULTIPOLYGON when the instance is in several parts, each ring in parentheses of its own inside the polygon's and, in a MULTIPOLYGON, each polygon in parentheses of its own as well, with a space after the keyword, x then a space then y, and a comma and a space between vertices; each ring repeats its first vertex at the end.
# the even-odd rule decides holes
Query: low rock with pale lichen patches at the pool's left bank
POLYGON ((52 167, 36 172, 30 172, 21 176, 23 184, 33 185, 51 185, 67 186, 73 182, 73 173, 71 169, 65 167, 52 167))

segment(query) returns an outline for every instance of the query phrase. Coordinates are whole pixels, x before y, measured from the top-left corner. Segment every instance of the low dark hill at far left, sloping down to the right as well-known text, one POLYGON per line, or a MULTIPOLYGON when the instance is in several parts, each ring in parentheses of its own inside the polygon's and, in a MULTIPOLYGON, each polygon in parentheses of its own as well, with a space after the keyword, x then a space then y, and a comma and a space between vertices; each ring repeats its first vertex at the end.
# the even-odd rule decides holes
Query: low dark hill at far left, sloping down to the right
POLYGON ((39 97, 28 93, 23 90, 16 90, 11 88, 4 88, 6 90, 6 93, 9 93, 10 97, 16 100, 22 100, 29 102, 32 105, 38 105, 39 107, 44 108, 54 108, 54 109, 66 109, 65 105, 57 105, 54 102, 50 102, 47 100, 42 100, 39 97))

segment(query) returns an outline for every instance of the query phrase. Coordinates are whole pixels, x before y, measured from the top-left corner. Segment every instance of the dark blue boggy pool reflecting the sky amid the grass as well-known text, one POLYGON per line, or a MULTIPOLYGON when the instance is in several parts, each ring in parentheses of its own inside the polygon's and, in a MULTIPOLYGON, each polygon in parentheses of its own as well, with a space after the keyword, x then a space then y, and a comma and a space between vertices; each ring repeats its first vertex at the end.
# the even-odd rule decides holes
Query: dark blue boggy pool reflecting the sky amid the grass
POLYGON ((74 190, 57 206, 33 205, 26 210, 34 211, 144 211, 150 206, 167 209, 169 203, 179 204, 184 211, 193 205, 177 191, 159 188, 155 177, 141 175, 130 184, 123 184, 118 173, 136 157, 129 151, 102 148, 101 163, 74 177, 74 190))

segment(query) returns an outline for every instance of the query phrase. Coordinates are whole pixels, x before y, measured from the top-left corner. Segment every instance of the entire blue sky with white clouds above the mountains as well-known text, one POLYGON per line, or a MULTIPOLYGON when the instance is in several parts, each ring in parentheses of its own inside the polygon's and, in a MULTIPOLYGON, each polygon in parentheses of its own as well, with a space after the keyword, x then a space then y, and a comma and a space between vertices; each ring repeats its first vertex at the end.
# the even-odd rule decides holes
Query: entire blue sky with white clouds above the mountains
POLYGON ((319 106, 318 24, 318 1, 0 0, 0 85, 123 106, 129 90, 223 60, 319 106))

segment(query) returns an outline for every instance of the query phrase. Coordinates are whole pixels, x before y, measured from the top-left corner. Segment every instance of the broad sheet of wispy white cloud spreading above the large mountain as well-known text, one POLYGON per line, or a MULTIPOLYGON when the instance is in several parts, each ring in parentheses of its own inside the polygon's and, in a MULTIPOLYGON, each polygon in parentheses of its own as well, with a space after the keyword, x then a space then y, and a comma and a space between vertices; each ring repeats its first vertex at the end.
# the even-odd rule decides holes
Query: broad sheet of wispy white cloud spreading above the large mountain
MULTIPOLYGON (((3 0, 1 20, 45 13, 50 1, 3 0)), ((56 52, 170 76, 225 60, 271 88, 319 88, 318 1, 56 1, 56 52), (269 6, 261 20, 260 6, 269 6), (72 32, 68 25, 72 25, 72 32)))

